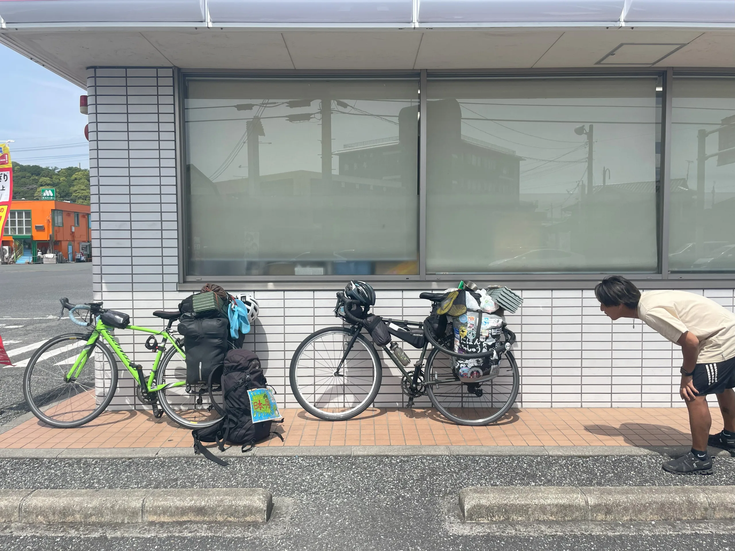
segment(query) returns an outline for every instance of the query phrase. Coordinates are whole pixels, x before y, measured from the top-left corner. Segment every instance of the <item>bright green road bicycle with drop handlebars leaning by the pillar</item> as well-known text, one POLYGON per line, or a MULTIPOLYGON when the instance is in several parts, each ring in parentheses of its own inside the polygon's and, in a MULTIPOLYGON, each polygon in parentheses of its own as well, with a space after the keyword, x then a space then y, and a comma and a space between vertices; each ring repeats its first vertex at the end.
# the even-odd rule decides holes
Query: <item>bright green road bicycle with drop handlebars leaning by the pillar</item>
MULTIPOLYGON (((23 378, 23 392, 38 419, 52 427, 73 428, 101 414, 112 403, 118 388, 115 356, 132 375, 137 400, 151 406, 154 417, 165 412, 185 428, 203 428, 221 419, 211 402, 222 400, 221 388, 212 388, 210 393, 206 383, 186 381, 183 343, 171 334, 173 322, 181 316, 179 311, 154 311, 154 316, 168 320, 161 330, 129 325, 127 314, 103 309, 102 303, 74 306, 67 298, 60 302, 59 317, 68 309, 71 320, 90 328, 90 332, 55 336, 31 357, 23 378), (75 317, 83 311, 87 313, 82 319, 75 317), (115 328, 150 334, 146 348, 156 353, 150 375, 146 376, 143 367, 123 352, 115 340, 115 328)), ((116 405, 127 406, 129 399, 116 405)))

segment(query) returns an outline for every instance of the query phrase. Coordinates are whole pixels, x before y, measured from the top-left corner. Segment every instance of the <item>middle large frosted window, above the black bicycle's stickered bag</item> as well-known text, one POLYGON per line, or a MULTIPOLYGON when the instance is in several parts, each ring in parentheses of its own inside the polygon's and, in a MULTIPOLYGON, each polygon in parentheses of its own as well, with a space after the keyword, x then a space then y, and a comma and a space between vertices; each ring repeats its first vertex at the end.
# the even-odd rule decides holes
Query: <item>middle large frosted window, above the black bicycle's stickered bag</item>
POLYGON ((660 105, 656 77, 430 80, 427 273, 656 272, 660 105))

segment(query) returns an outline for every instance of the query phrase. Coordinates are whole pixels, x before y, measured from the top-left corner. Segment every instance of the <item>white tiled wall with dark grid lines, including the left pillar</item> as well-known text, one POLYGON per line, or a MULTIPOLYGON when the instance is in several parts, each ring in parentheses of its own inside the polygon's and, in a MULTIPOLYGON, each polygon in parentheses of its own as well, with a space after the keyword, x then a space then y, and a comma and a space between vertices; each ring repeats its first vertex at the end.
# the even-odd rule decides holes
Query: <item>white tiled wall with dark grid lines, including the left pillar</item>
MULTIPOLYGON (((155 309, 176 309, 176 137, 171 68, 96 68, 87 73, 92 190, 93 285, 96 300, 126 311, 137 325, 162 326, 155 309)), ((228 289, 239 295, 248 289, 228 289)), ((245 338, 262 360, 281 406, 296 406, 288 367, 312 331, 340 325, 334 291, 256 291, 260 317, 245 338)), ((700 289, 728 309, 733 289, 700 289)), ((419 291, 379 291, 375 312, 423 320, 429 303, 419 291)), ((514 354, 521 373, 517 406, 684 406, 678 396, 681 349, 639 321, 612 323, 592 291, 526 290, 517 314, 514 354)), ((147 334, 118 331, 132 361, 150 369, 147 334)), ((404 350, 412 359, 419 351, 404 350)), ((404 406, 397 368, 380 352, 383 384, 376 406, 404 406)), ((143 408, 121 370, 112 408, 143 408)), ((417 406, 428 400, 417 400, 417 406)))

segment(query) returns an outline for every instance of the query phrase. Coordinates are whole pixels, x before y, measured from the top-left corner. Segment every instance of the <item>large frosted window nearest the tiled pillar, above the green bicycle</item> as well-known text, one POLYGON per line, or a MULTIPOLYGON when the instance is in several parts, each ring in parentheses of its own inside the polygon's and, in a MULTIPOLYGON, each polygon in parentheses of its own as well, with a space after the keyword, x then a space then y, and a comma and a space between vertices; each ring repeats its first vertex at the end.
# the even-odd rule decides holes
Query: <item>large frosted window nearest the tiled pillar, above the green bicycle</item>
POLYGON ((417 274, 417 84, 189 79, 188 275, 417 274))

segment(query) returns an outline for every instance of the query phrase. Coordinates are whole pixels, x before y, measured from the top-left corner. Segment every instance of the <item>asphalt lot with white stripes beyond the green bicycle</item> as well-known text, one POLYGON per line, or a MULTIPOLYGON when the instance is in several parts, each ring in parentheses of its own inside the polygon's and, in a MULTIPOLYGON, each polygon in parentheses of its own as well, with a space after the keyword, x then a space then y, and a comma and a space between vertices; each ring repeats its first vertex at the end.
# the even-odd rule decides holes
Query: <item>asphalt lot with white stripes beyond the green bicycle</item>
POLYGON ((0 336, 16 367, 0 365, 0 425, 29 409, 23 398, 24 360, 43 342, 81 329, 58 320, 59 298, 92 300, 92 264, 0 265, 0 336), (15 353, 13 353, 15 351, 15 353))

